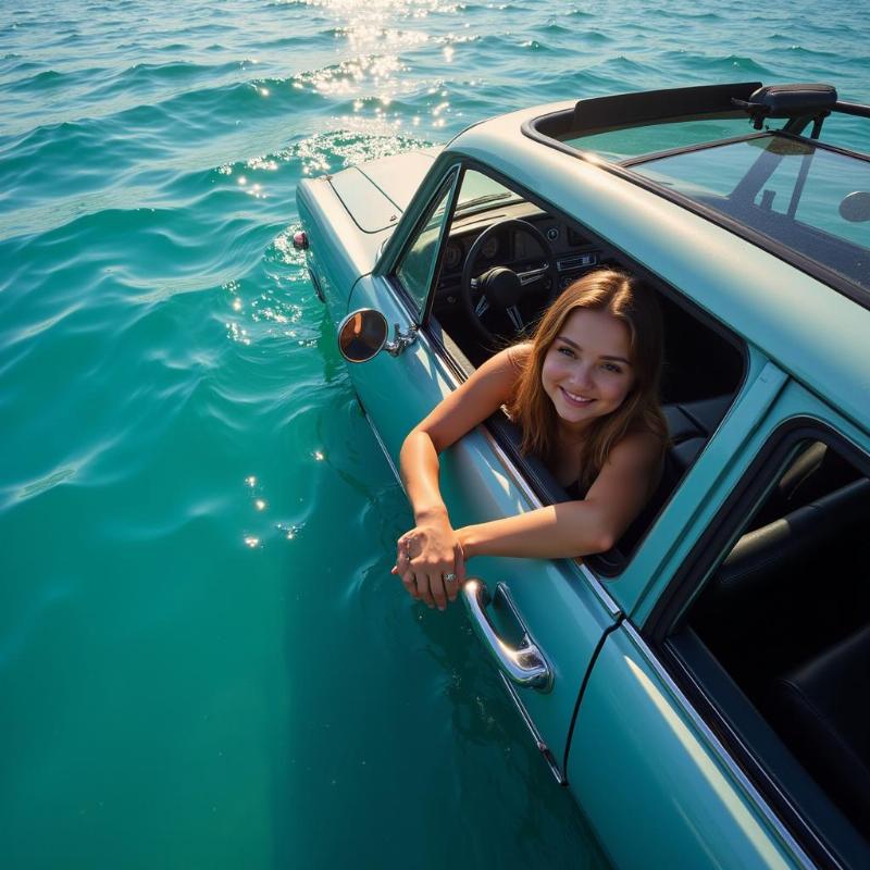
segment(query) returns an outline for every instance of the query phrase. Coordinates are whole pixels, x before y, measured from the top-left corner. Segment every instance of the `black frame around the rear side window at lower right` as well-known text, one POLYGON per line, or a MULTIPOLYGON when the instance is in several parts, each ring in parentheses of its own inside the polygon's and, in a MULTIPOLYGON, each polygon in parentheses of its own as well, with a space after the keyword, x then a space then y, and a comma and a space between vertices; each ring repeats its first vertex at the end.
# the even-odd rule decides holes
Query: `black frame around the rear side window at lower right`
MULTIPOLYGON (((698 593, 731 552, 801 444, 821 440, 858 472, 870 477, 870 452, 841 431, 846 427, 834 409, 829 410, 831 418, 828 420, 799 414, 772 427, 770 437, 748 462, 739 483, 709 521, 667 591, 659 597, 641 634, 693 709, 801 847, 823 867, 848 867, 853 866, 853 854, 860 849, 860 843, 856 845, 856 835, 860 841, 860 834, 826 792, 815 784, 800 761, 791 756, 772 725, 755 709, 718 659, 706 647, 703 656, 698 657, 707 659, 703 664, 720 670, 722 676, 731 681, 728 685, 711 685, 716 676, 710 679, 709 672, 705 682, 705 676, 698 674, 698 658, 694 659, 695 663, 689 661, 687 648, 691 642, 678 643, 673 639, 686 626, 698 593), (732 687, 737 689, 736 700, 724 697, 732 687), (735 713, 737 717, 746 713, 741 719, 742 724, 747 720, 750 724, 763 723, 756 731, 754 743, 738 733, 739 729, 734 723, 735 713), (769 735, 766 729, 770 730, 769 735), (767 744, 768 737, 775 743, 766 746, 771 751, 763 755, 758 749, 758 743, 767 744), (779 766, 774 767, 776 759, 771 762, 771 755, 781 754, 786 756, 785 763, 779 759, 779 766), (790 772, 788 768, 798 773, 790 772), (805 778, 808 784, 804 782, 805 778), (817 806, 808 809, 807 801, 815 801, 817 806)), ((861 857, 858 856, 859 859, 861 857)))

